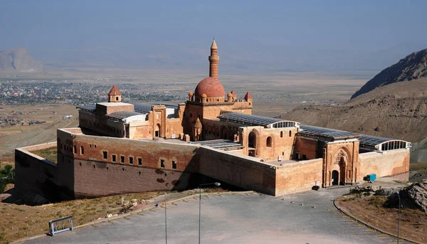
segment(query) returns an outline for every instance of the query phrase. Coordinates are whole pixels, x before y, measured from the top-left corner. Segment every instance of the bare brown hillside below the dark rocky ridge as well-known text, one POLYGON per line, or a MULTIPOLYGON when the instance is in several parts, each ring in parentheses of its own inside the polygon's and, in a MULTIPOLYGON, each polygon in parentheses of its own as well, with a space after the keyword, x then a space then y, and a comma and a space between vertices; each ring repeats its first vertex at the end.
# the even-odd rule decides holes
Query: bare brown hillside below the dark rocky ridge
MULTIPOLYGON (((393 83, 349 100, 344 105, 304 105, 286 120, 413 144, 414 161, 427 161, 427 78, 393 83), (422 142, 421 142, 422 141, 422 142)), ((412 154, 411 154, 412 157, 412 154)))

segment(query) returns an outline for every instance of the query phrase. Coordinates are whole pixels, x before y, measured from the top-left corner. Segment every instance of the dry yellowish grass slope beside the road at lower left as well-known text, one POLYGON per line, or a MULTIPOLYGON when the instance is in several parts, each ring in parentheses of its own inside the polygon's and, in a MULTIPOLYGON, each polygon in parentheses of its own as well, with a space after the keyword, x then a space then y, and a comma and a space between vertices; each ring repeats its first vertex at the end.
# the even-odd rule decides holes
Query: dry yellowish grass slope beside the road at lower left
POLYGON ((120 198, 150 199, 163 192, 130 193, 119 196, 64 201, 43 206, 25 206, 0 202, 0 243, 31 235, 48 233, 48 221, 73 216, 73 225, 79 226, 107 214, 120 213, 120 198))

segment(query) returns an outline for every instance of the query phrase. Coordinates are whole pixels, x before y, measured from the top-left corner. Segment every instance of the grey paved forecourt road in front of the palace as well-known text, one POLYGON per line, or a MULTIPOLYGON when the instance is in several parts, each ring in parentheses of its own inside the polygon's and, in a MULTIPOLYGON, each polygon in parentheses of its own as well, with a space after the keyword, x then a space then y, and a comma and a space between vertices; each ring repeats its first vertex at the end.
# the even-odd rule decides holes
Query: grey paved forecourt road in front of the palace
MULTIPOLYGON (((204 196, 201 243, 395 243, 337 212, 332 200, 347 192, 308 191, 278 198, 258 193, 204 196)), ((142 214, 27 243, 164 243, 164 208, 142 214)), ((167 230, 168 243, 197 243, 198 198, 167 206, 167 230)))

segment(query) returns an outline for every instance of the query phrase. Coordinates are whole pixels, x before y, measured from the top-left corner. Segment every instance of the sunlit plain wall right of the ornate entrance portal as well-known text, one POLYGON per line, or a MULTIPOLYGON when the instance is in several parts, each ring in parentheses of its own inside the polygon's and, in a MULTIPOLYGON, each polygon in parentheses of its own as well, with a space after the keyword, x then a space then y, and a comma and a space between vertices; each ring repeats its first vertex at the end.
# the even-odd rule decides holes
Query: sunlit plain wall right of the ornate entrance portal
POLYGON ((367 174, 376 174, 376 177, 398 176, 408 181, 409 154, 408 149, 384 151, 382 154, 378 152, 359 154, 360 179, 367 174))

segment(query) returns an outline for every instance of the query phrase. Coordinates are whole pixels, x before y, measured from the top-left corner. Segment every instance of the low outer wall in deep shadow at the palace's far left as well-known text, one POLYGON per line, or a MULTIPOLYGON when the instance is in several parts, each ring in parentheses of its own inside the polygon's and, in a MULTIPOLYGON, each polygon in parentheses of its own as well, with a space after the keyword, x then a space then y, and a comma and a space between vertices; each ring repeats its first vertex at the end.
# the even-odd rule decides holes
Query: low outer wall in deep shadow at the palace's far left
POLYGON ((57 165, 31 152, 56 147, 56 142, 15 149, 15 189, 38 193, 49 199, 60 198, 57 187, 57 165))

